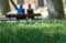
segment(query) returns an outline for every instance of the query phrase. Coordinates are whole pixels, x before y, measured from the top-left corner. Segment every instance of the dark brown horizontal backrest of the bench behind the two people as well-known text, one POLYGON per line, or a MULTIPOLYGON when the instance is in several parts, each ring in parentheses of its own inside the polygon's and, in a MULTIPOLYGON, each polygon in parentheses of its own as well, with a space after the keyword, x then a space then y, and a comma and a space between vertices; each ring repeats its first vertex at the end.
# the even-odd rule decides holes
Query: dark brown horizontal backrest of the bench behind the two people
POLYGON ((40 17, 40 15, 41 15, 41 13, 33 13, 33 14, 29 14, 29 13, 26 13, 26 14, 24 14, 24 13, 23 14, 6 14, 6 18, 16 18, 16 19, 21 18, 22 19, 22 17, 32 18, 32 17, 40 17))

